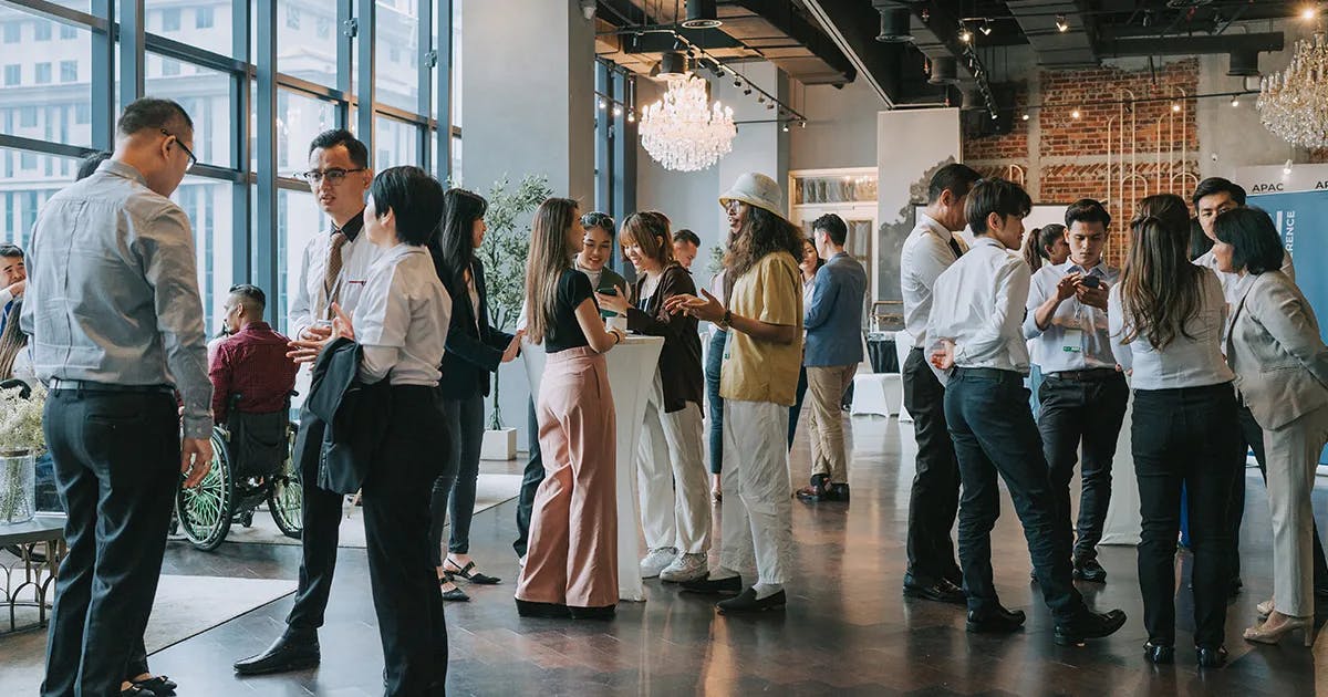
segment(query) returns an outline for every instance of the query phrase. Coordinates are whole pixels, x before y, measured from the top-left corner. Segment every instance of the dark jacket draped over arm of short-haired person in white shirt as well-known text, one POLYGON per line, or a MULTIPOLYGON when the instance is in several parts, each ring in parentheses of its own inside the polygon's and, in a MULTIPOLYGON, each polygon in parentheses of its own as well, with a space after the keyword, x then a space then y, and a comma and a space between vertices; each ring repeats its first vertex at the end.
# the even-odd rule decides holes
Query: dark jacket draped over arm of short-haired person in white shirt
POLYGON ((360 344, 345 337, 323 349, 295 438, 300 471, 316 467, 319 489, 337 494, 360 490, 392 418, 388 378, 356 380, 361 354, 360 344))

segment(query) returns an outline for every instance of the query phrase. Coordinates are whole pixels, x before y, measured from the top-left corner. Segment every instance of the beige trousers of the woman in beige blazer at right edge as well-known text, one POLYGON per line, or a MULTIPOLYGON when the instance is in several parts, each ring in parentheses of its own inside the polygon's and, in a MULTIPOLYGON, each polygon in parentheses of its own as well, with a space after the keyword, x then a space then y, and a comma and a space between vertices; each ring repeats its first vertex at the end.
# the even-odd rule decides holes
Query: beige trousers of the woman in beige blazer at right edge
POLYGON ((1272 518, 1272 599, 1278 612, 1292 617, 1315 613, 1315 510, 1309 493, 1325 442, 1328 406, 1263 431, 1272 518))

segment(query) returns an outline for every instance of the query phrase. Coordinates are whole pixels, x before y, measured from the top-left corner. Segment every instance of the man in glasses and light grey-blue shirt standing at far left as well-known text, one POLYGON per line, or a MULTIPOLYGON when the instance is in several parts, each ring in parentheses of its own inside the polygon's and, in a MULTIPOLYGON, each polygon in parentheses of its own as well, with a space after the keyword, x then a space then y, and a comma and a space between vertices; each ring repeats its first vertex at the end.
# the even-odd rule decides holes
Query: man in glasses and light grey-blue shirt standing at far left
POLYGON ((44 696, 129 688, 129 640, 151 612, 179 473, 195 486, 211 467, 194 242, 166 198, 194 163, 193 138, 178 104, 130 104, 112 159, 52 196, 33 227, 20 323, 50 389, 46 445, 69 514, 44 696))

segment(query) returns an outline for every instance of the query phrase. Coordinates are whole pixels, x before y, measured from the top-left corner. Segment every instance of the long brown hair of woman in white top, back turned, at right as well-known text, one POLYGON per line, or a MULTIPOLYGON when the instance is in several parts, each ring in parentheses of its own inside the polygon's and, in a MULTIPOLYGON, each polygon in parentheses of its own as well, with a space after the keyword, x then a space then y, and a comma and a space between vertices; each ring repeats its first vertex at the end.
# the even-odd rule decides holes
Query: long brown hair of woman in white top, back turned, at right
POLYGON ((1138 210, 1130 222, 1133 239, 1121 270, 1121 343, 1142 335, 1161 350, 1181 336, 1191 337, 1185 327, 1203 303, 1204 270, 1190 263, 1187 254, 1189 216, 1181 212, 1186 211, 1185 199, 1159 194, 1139 202, 1138 210))

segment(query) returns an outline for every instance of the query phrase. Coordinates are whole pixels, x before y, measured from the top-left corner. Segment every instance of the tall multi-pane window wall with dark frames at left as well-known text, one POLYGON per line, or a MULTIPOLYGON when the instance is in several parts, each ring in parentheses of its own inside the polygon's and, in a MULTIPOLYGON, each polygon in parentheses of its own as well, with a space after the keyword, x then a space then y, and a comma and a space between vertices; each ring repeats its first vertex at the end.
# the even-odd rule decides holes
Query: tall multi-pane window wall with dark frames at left
MULTIPOLYGON (((454 116, 461 3, 453 0, 444 23, 454 44, 454 116)), ((108 46, 106 28, 120 39, 134 32, 117 25, 118 15, 97 15, 121 12, 124 3, 0 1, 0 240, 27 244, 41 204, 73 181, 80 157, 112 146, 125 58, 141 65, 143 94, 178 101, 194 121, 199 163, 173 199, 193 227, 208 333, 235 283, 263 288, 278 327, 286 327, 301 252, 329 224, 308 185, 293 178, 308 167, 308 145, 319 133, 347 127, 372 141, 376 170, 428 165, 436 173, 449 170, 438 163, 442 135, 452 143, 450 169, 459 173, 459 130, 438 133, 437 78, 426 60, 437 45, 437 0, 376 0, 372 19, 357 16, 359 0, 276 0, 271 57, 258 54, 264 3, 143 5, 145 42, 134 56, 134 46, 120 41, 108 46), (372 85, 356 73, 365 52, 374 57, 372 85), (372 104, 360 98, 369 88, 372 104), (275 94, 275 104, 260 104, 263 94, 275 94), (421 101, 433 106, 421 109, 421 101), (372 133, 360 133, 365 122, 372 133), (274 186, 259 190, 260 181, 274 186)))

